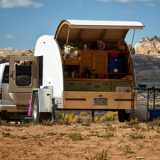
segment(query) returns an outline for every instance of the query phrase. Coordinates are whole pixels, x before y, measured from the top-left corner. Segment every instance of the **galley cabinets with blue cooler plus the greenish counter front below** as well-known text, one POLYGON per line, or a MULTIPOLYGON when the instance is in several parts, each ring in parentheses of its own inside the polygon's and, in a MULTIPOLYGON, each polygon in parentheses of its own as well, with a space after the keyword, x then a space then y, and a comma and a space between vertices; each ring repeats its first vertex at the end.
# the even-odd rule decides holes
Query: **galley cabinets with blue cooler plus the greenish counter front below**
POLYGON ((132 86, 127 53, 116 50, 78 50, 63 59, 64 91, 112 92, 132 86), (73 63, 74 61, 74 63, 73 63))

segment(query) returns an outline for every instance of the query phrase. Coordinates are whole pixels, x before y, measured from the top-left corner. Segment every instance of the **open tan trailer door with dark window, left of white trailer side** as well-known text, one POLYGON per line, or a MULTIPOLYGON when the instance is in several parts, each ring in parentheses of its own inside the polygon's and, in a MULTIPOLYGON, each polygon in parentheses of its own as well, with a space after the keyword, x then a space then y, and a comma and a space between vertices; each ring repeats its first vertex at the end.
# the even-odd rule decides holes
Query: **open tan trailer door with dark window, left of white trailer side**
POLYGON ((9 69, 9 92, 31 93, 38 86, 38 59, 36 57, 12 57, 9 69))

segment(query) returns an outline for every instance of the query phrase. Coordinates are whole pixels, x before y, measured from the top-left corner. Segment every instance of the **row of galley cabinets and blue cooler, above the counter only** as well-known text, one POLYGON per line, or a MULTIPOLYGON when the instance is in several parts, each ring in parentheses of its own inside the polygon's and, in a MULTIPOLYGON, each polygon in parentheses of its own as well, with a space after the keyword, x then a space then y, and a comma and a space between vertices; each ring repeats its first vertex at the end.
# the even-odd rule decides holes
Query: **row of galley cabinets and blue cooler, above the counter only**
POLYGON ((65 79, 121 79, 129 75, 128 54, 113 50, 78 50, 63 59, 65 79))

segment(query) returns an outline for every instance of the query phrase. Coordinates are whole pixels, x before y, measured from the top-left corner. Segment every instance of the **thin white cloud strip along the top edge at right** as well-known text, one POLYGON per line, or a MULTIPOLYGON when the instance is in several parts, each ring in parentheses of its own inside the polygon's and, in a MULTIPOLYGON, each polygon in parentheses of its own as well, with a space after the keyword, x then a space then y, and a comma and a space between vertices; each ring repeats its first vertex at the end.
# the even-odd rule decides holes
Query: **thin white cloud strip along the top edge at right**
POLYGON ((148 6, 156 6, 156 4, 159 2, 159 0, 97 0, 98 2, 115 2, 115 3, 123 3, 123 4, 129 4, 129 3, 143 3, 148 6))

